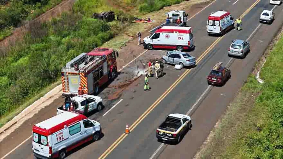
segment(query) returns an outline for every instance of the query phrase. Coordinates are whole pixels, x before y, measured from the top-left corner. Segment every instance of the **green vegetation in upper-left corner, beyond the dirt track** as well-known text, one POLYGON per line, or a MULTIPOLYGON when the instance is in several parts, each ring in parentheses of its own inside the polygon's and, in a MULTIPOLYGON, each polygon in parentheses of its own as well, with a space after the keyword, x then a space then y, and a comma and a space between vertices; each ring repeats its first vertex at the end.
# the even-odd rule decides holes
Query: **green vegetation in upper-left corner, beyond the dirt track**
POLYGON ((59 4, 62 0, 2 0, 0 3, 0 41, 12 30, 59 4))

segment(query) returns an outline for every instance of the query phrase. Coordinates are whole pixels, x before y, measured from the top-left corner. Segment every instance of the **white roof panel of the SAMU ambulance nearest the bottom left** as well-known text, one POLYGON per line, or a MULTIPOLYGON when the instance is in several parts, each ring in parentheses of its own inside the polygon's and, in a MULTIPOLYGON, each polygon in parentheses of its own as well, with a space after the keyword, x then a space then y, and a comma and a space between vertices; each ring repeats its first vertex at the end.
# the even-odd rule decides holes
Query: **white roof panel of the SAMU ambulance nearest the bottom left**
POLYGON ((45 121, 42 121, 38 124, 35 124, 35 126, 45 129, 50 129, 51 127, 55 127, 58 124, 61 124, 62 122, 65 122, 66 120, 70 120, 79 114, 73 113, 73 112, 62 112, 61 114, 58 114, 54 117, 51 117, 45 121))

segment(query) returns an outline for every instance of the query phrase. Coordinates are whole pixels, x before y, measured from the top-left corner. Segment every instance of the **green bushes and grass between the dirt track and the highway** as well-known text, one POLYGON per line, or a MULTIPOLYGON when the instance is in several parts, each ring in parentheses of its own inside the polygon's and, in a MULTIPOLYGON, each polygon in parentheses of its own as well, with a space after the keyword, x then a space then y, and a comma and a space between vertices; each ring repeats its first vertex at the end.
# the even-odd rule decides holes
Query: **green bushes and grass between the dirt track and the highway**
MULTIPOLYGON (((42 90, 47 91, 45 88, 50 90, 50 84, 60 80, 61 68, 66 62, 82 52, 88 52, 103 45, 114 36, 121 35, 126 27, 132 25, 130 22, 133 21, 133 15, 145 15, 144 13, 133 14, 135 11, 133 13, 121 11, 113 4, 113 1, 110 2, 111 5, 104 0, 78 0, 72 12, 63 13, 60 18, 53 18, 45 23, 32 22, 32 27, 24 40, 17 42, 13 47, 0 50, 2 56, 0 59, 0 127, 17 114, 14 112, 23 110, 28 100, 35 101, 33 97, 39 98, 38 94, 42 90), (91 18, 93 13, 108 10, 115 11, 115 14, 119 14, 119 18, 124 20, 107 23, 91 18)), ((141 4, 149 1, 121 0, 121 2, 125 4, 124 7, 137 9, 141 4)), ((156 2, 158 1, 154 1, 156 2)), ((171 2, 174 4, 178 1, 171 0, 171 2)), ((139 27, 145 25, 139 24, 139 27)), ((131 28, 131 32, 136 31, 139 30, 131 28)), ((119 43, 117 47, 121 45, 123 44, 119 43)), ((29 103, 31 104, 32 101, 29 103)))

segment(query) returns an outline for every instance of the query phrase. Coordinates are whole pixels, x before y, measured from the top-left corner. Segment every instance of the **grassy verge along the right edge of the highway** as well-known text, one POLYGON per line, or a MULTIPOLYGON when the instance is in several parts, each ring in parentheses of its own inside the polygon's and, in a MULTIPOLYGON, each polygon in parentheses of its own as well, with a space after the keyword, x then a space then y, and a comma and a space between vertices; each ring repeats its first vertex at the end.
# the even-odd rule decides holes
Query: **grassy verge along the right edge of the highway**
POLYGON ((283 158, 283 37, 269 52, 259 84, 249 77, 196 158, 283 158))

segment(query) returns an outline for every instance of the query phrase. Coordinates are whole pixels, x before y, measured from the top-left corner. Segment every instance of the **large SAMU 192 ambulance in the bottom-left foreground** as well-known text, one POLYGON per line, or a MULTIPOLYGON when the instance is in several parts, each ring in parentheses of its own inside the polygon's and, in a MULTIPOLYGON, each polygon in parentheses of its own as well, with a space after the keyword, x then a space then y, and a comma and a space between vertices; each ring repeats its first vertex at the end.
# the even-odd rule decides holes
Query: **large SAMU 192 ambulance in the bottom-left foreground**
POLYGON ((32 127, 36 158, 66 157, 66 153, 101 136, 100 123, 74 112, 63 112, 32 127))

